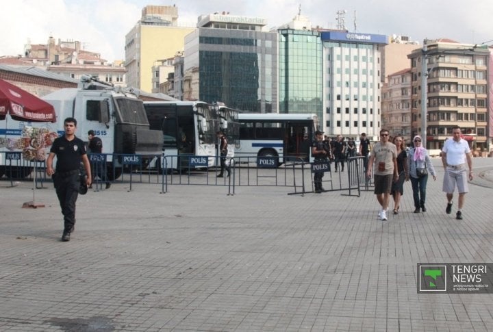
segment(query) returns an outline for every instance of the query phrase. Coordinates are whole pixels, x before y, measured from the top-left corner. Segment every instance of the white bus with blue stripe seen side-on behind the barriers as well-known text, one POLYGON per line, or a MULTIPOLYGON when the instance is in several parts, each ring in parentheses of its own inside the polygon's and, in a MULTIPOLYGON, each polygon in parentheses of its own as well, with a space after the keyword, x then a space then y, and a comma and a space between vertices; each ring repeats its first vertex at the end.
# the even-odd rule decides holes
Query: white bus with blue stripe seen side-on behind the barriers
POLYGON ((287 161, 309 161, 316 114, 240 113, 240 140, 236 157, 279 157, 287 161))

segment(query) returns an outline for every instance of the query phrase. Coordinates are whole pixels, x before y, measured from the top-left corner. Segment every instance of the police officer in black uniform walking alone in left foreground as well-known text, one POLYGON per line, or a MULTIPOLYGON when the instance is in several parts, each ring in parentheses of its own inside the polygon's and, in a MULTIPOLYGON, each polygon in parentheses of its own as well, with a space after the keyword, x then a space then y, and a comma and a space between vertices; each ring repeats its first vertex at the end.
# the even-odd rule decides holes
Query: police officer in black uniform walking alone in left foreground
MULTIPOLYGON (((64 216, 64 232, 62 241, 70 241, 70 235, 75 225, 75 202, 79 195, 80 167, 84 164, 86 170, 86 186, 92 183, 89 159, 86 155, 84 141, 75 136, 77 120, 64 120, 64 136, 56 138, 47 158, 47 175, 53 177, 58 201, 64 216), (53 158, 57 157, 56 171, 53 170, 53 158)), ((87 191, 87 188, 86 188, 87 191)))

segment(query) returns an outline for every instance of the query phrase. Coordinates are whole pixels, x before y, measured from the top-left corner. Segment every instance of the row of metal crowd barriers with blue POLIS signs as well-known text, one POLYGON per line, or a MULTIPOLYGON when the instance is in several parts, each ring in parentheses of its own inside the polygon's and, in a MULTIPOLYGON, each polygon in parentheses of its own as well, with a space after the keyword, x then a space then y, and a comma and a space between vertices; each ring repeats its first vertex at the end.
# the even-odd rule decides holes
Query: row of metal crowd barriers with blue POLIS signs
MULTIPOLYGON (((51 181, 45 173, 45 162, 27 162, 18 152, 1 152, 3 166, 0 175, 11 181, 32 180, 36 187, 51 181), (36 167, 35 167, 36 166, 36 167), (34 173, 36 169, 36 173, 34 173)), ((94 191, 103 189, 105 181, 126 183, 131 191, 134 183, 149 183, 160 186, 160 193, 166 193, 169 186, 226 186, 227 194, 233 195, 236 187, 275 186, 292 188, 288 194, 307 194, 314 192, 314 164, 296 157, 286 157, 281 166, 277 157, 233 157, 227 159, 230 177, 220 172, 220 156, 197 155, 127 155, 127 154, 89 154, 94 191), (213 164, 214 166, 209 166, 213 164), (112 165, 112 166, 110 166, 112 165), (105 171, 106 177, 102 175, 105 171)), ((344 172, 333 171, 333 163, 323 178, 325 192, 348 192, 359 196, 360 190, 368 190, 371 180, 366 178, 365 157, 349 157, 344 161, 344 172)), ((340 169, 341 170, 341 169, 340 169)))

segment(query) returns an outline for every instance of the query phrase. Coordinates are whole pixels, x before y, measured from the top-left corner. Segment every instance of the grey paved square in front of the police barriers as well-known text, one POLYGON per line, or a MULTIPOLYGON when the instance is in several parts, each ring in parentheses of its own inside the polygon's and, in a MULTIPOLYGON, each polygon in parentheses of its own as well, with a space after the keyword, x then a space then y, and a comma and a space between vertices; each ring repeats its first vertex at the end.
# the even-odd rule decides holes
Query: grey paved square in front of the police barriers
POLYGON ((493 331, 492 294, 417 294, 417 263, 493 262, 493 189, 455 220, 433 164, 427 212, 407 182, 385 222, 372 192, 115 183, 70 242, 51 184, 23 209, 32 183, 1 181, 0 331, 493 331))

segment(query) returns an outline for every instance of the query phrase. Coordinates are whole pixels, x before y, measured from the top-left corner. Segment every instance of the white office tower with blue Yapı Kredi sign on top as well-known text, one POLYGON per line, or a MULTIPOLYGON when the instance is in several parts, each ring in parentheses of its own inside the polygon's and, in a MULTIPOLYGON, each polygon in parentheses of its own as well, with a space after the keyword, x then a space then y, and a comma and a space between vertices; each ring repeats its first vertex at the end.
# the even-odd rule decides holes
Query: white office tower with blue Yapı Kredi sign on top
POLYGON ((379 135, 380 49, 387 36, 323 31, 323 124, 327 135, 379 135))

